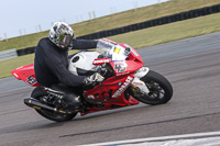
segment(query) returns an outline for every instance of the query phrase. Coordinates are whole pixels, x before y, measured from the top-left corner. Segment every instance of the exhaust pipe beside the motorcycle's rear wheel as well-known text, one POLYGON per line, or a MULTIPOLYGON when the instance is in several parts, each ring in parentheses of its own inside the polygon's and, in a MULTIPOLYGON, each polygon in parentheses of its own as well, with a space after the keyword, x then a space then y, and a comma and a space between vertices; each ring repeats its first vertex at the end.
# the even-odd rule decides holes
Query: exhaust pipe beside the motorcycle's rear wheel
POLYGON ((24 103, 28 106, 34 108, 36 110, 47 110, 47 111, 53 111, 53 112, 66 113, 66 112, 61 111, 61 110, 58 111, 56 108, 52 108, 50 105, 46 105, 46 104, 42 103, 41 101, 33 99, 33 98, 24 99, 24 103))

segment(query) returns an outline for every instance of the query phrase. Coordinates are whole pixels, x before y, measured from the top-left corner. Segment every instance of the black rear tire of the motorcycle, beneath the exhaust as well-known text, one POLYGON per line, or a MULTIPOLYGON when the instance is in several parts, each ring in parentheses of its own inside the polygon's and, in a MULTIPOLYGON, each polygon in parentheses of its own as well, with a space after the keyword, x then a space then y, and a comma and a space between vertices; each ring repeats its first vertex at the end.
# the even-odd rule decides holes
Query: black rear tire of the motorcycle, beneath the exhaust
MULTIPOLYGON (((40 97, 36 97, 35 99, 42 101, 43 97, 44 96, 40 96, 40 97)), ((77 115, 77 112, 73 113, 73 114, 64 114, 64 113, 58 113, 58 112, 45 111, 45 110, 37 110, 37 109, 35 109, 35 110, 38 114, 41 114, 45 119, 48 119, 48 120, 52 120, 52 121, 55 121, 55 122, 69 121, 77 115)))

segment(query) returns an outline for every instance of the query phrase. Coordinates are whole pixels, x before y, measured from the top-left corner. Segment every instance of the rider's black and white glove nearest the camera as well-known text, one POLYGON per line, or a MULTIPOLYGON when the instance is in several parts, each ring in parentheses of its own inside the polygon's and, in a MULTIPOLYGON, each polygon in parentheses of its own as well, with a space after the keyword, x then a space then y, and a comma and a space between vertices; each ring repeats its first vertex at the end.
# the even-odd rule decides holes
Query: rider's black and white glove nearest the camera
POLYGON ((100 74, 98 72, 95 72, 94 75, 89 76, 89 77, 86 77, 84 79, 84 85, 85 86, 90 86, 92 85, 94 82, 101 82, 105 80, 105 77, 102 77, 100 74))

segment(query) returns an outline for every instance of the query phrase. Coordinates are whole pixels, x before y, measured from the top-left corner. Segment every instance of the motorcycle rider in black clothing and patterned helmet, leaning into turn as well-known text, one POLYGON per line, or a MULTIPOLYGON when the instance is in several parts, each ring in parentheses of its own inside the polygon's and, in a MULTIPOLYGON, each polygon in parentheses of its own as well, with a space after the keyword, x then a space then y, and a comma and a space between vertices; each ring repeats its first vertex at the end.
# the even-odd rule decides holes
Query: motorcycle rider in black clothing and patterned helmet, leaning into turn
POLYGON ((38 42, 34 58, 35 78, 41 87, 65 93, 58 101, 61 108, 73 111, 80 106, 80 99, 73 91, 77 90, 77 87, 103 81, 105 78, 98 72, 86 77, 68 71, 69 49, 96 48, 99 43, 102 42, 76 40, 72 26, 64 22, 54 23, 50 36, 38 42))

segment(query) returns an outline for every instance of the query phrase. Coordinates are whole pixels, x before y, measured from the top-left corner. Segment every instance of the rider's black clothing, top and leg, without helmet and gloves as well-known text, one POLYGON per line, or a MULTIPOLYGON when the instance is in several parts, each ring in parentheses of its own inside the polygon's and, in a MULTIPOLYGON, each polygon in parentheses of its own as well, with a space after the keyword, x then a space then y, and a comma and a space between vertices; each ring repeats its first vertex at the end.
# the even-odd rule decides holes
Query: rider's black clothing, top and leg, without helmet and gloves
MULTIPOLYGON (((73 49, 96 48, 97 43, 97 41, 75 40, 73 49)), ((86 77, 68 71, 68 53, 57 47, 48 37, 42 38, 36 46, 34 71, 41 87, 65 92, 61 100, 64 109, 73 111, 81 105, 74 90, 82 86, 86 77)))

